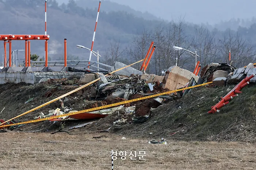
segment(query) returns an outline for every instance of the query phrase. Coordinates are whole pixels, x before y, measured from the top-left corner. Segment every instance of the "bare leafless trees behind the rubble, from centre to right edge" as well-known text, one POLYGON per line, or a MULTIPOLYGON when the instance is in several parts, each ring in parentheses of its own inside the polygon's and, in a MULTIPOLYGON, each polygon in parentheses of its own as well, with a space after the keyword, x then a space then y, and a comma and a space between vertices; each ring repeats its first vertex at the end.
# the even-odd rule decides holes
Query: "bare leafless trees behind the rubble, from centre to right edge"
MULTIPOLYGON (((248 41, 238 31, 227 29, 226 31, 209 31, 205 26, 188 25, 183 19, 168 24, 160 24, 154 29, 144 29, 140 35, 135 35, 133 42, 125 49, 119 48, 119 42, 110 43, 105 59, 108 64, 114 61, 139 61, 146 56, 150 43, 156 45, 151 58, 148 73, 161 75, 161 72, 177 65, 181 68, 193 71, 195 57, 185 50, 174 50, 173 46, 197 52, 197 61, 202 66, 211 62, 229 63, 229 50, 231 50, 231 64, 237 68, 255 62, 256 44, 248 41)), ((140 64, 136 66, 140 67, 140 64)))

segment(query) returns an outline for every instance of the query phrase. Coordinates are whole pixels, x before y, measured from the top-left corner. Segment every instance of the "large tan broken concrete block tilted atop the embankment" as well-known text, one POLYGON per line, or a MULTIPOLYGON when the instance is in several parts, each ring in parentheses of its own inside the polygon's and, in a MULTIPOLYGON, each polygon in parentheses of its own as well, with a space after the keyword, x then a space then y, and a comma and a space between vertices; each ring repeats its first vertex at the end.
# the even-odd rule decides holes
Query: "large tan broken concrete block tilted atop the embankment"
POLYGON ((178 66, 172 66, 165 74, 162 87, 169 90, 177 90, 184 87, 192 77, 195 79, 195 82, 198 82, 199 77, 192 72, 178 66))

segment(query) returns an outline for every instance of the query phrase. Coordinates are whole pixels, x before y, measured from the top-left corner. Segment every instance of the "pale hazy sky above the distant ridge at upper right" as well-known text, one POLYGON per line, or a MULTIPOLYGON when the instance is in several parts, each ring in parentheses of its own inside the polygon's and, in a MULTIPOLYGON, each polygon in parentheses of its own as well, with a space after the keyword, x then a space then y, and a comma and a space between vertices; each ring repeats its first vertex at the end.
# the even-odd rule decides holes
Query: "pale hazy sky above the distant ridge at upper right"
MULTIPOLYGON (((68 2, 68 0, 57 0, 68 2)), ((102 0, 102 5, 104 5, 102 0)), ((148 11, 162 19, 184 17, 191 23, 216 24, 232 18, 251 19, 256 16, 256 0, 110 0, 135 10, 148 11)))

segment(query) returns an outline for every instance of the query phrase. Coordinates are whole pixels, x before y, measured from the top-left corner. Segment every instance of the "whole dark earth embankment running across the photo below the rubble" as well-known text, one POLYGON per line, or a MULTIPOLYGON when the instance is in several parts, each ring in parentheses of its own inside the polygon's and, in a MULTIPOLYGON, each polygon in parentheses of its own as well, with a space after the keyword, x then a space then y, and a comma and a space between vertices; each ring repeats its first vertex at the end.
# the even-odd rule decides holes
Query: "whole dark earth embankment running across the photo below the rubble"
MULTIPOLYGON (((50 101, 79 87, 78 80, 49 80, 36 85, 25 83, 0 85, 0 118, 8 120, 21 113, 50 101), (26 103, 26 104, 25 104, 26 103), (4 109, 5 108, 5 109, 4 109)), ((256 86, 248 85, 242 89, 242 94, 221 108, 220 113, 207 114, 210 107, 216 104, 221 96, 228 93, 227 89, 233 86, 214 88, 211 86, 193 89, 189 94, 177 99, 177 101, 165 101, 161 105, 153 99, 133 102, 126 106, 136 106, 135 114, 126 113, 119 110, 110 114, 106 118, 96 120, 93 124, 84 128, 79 128, 83 132, 114 132, 126 137, 170 137, 177 140, 186 141, 256 141, 256 86), (144 116, 151 111, 151 117, 144 123, 133 123, 132 117, 144 116), (127 119, 118 127, 113 126, 113 122, 127 119), (89 130, 89 131, 88 131, 89 130), (153 133, 149 135, 149 133, 153 133)), ((72 110, 84 110, 125 101, 125 99, 115 98, 104 101, 89 101, 90 88, 86 87, 75 92, 61 101, 53 102, 32 113, 28 113, 16 121, 33 120, 39 113, 48 114, 52 109, 61 108, 62 102, 65 107, 72 110)), ((135 94, 130 99, 142 97, 135 94)), ((63 109, 63 108, 61 108, 63 109)), ((66 121, 65 129, 84 121, 66 121)), ((26 124, 20 127, 23 131, 53 132, 58 130, 60 124, 49 121, 26 124)), ((72 130, 70 130, 72 132, 72 130)))

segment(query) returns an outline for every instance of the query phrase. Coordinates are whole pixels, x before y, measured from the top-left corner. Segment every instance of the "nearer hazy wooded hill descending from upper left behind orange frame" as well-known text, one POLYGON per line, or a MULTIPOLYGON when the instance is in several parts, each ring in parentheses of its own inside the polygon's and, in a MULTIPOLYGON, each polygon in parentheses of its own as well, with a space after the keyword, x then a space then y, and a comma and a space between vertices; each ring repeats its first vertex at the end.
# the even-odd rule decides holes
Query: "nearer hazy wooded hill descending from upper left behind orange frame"
MULTIPOLYGON (((0 15, 5 16, 0 18, 0 22, 5 23, 2 25, 1 34, 44 34, 43 6, 36 8, 8 7, 4 3, 0 3, 0 15)), ((63 57, 63 38, 67 38, 68 54, 72 56, 81 56, 82 54, 82 50, 75 47, 77 44, 91 47, 96 13, 92 14, 93 17, 82 17, 49 7, 47 15, 47 34, 51 36, 49 40, 49 57, 51 59, 63 57)), ((125 45, 132 41, 132 37, 132 34, 104 21, 100 16, 94 49, 105 52, 110 40, 121 39, 121 43, 125 45)), ((13 50, 24 49, 24 46, 23 41, 12 43, 13 50)), ((32 41, 31 49, 32 53, 43 56, 44 41, 32 41)), ((3 52, 3 45, 0 45, 0 50, 3 52)), ((85 54, 88 56, 86 52, 84 52, 85 54)), ((2 57, 0 57, 0 61, 2 61, 2 57)))

